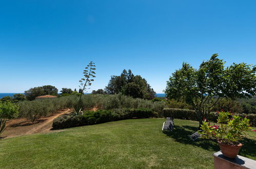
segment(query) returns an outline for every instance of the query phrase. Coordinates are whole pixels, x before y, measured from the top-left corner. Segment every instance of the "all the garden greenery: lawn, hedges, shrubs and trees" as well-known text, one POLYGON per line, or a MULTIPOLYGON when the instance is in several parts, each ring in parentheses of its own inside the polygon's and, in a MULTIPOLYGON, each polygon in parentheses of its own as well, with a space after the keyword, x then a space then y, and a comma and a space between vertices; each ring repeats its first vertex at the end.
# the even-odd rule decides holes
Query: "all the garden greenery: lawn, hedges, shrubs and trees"
POLYGON ((112 76, 106 91, 84 94, 95 77, 90 62, 79 93, 63 88, 68 93, 34 99, 33 90, 57 93, 56 88, 43 86, 30 89, 30 99, 2 100, 0 135, 11 119, 25 118, 33 125, 67 111, 48 121, 49 133, 1 139, 0 167, 212 168, 218 143, 240 142, 240 155, 256 160, 255 112, 250 108, 251 114, 245 114, 234 102, 255 95, 255 69, 244 63, 224 69, 223 64, 217 54, 199 70, 183 64, 167 81, 167 99, 153 98, 147 81, 130 70, 112 76), (234 83, 238 72, 243 72, 242 80, 234 83), (218 109, 225 110, 214 111, 218 109), (174 119, 171 132, 161 130, 166 117, 174 119), (191 140, 189 136, 199 130, 202 137, 191 140))

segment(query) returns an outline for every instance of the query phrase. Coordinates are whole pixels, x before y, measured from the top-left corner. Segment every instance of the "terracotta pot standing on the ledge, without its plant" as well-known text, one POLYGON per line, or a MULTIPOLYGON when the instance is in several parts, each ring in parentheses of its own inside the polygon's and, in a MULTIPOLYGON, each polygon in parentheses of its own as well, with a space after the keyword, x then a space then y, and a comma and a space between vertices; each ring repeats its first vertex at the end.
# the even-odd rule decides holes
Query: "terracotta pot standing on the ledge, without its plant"
POLYGON ((218 143, 219 143, 222 154, 228 158, 237 157, 239 150, 243 145, 241 143, 239 143, 238 145, 228 145, 228 144, 221 143, 220 141, 218 141, 218 143))

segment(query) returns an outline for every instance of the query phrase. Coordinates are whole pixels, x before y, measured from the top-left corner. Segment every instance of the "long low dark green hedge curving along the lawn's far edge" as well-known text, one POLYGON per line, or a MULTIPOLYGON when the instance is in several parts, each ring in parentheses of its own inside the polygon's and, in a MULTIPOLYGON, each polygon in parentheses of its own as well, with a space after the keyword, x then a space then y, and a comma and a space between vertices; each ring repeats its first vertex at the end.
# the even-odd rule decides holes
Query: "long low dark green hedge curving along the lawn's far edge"
POLYGON ((65 129, 76 126, 99 124, 109 121, 124 120, 130 118, 156 117, 157 113, 149 109, 115 109, 85 111, 83 115, 66 114, 53 120, 53 129, 65 129))

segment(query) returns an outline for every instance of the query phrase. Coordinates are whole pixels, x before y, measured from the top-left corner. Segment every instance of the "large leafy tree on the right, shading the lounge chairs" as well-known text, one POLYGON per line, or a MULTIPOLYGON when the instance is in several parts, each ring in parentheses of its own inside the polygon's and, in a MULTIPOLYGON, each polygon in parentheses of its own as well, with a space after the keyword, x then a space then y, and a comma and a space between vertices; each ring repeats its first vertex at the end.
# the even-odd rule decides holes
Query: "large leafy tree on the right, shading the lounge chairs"
POLYGON ((255 66, 245 63, 232 64, 224 68, 224 61, 213 54, 203 61, 199 69, 183 63, 167 81, 165 93, 169 99, 183 100, 190 104, 198 115, 200 124, 203 117, 223 98, 241 98, 255 95, 255 66), (214 97, 215 98, 214 98, 214 97))

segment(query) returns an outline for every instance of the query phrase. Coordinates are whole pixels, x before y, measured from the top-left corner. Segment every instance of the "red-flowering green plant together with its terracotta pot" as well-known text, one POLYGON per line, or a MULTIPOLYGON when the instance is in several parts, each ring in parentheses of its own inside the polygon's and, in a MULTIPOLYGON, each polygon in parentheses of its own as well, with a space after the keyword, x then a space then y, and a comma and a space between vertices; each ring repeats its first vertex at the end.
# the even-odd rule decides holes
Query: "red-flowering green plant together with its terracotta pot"
POLYGON ((250 129, 249 119, 235 116, 230 112, 217 112, 219 125, 211 125, 204 120, 201 125, 201 134, 204 138, 216 139, 220 146, 221 152, 228 158, 237 157, 242 143, 244 132, 250 129))

